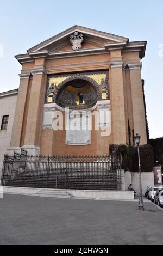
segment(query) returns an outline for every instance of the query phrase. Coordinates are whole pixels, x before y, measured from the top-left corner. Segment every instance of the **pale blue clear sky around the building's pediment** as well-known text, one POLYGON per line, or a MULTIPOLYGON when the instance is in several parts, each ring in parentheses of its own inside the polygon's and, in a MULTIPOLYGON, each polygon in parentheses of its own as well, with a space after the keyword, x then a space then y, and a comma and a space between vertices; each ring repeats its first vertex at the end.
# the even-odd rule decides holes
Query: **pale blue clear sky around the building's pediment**
POLYGON ((151 138, 163 136, 163 0, 0 0, 0 8, 0 92, 19 86, 14 55, 74 25, 147 40, 142 78, 149 131, 151 138))

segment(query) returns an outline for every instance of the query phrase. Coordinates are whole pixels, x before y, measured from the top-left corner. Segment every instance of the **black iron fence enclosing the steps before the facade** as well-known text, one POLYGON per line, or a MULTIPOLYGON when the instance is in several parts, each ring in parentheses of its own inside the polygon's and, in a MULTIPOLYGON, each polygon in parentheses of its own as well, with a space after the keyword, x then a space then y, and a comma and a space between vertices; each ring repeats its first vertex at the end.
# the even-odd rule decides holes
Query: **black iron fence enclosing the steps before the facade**
POLYGON ((110 156, 5 155, 1 185, 121 190, 121 161, 110 156))

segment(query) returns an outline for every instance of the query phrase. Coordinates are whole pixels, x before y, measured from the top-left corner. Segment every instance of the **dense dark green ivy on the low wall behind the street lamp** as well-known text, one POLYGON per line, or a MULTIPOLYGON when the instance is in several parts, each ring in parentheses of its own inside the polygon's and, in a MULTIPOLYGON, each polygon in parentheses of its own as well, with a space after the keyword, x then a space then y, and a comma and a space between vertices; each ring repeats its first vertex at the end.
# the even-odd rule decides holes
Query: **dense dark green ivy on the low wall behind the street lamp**
MULTIPOLYGON (((151 145, 140 145, 140 162, 142 172, 152 172, 154 166, 154 152, 151 145)), ((111 156, 121 156, 124 171, 139 172, 137 146, 110 145, 111 156)))

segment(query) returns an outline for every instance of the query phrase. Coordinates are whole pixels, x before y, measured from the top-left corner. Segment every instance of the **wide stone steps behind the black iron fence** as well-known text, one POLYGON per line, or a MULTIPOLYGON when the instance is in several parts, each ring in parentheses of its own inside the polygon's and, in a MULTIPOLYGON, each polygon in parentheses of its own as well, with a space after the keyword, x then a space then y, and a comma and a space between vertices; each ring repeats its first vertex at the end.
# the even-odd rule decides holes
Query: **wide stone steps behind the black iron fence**
POLYGON ((89 169, 49 169, 22 170, 9 179, 6 186, 37 187, 37 188, 71 188, 86 190, 117 190, 117 174, 114 175, 106 169, 96 172, 89 169), (57 182, 56 182, 57 178, 57 182), (57 184, 57 186, 56 186, 57 184))

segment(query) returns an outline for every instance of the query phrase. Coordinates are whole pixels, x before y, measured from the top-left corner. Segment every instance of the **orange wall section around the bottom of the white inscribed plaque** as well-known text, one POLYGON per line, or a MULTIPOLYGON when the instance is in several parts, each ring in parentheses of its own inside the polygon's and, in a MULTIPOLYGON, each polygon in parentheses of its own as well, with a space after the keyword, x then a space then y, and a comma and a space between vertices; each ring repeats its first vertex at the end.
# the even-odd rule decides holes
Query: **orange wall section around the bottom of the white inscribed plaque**
MULTIPOLYGON (((95 109, 97 111, 97 108, 95 109)), ((65 114, 63 114, 63 125, 65 126, 65 114)), ((92 118, 92 126, 95 119, 92 118)), ((91 131, 91 144, 89 145, 66 145, 65 130, 47 130, 41 132, 40 153, 41 155, 108 155, 111 136, 101 136, 101 130, 91 131)))

